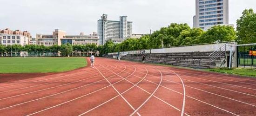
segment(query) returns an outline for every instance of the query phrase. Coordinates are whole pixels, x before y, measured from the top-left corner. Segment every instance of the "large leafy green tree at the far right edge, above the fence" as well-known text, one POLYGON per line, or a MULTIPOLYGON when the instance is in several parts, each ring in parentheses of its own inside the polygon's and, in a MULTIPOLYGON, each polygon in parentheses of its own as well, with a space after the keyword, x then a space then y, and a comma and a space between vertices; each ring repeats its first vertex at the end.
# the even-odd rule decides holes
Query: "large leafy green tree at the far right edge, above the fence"
POLYGON ((239 44, 256 43, 256 13, 253 9, 245 9, 242 17, 236 21, 237 39, 239 44))

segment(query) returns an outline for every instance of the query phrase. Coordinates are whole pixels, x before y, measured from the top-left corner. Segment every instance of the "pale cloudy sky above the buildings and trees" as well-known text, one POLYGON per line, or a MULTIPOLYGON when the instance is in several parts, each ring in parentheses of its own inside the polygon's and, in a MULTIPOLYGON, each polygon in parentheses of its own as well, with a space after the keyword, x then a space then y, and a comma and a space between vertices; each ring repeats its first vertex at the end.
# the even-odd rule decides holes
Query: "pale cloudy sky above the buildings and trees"
MULTIPOLYGON (((187 23, 193 27, 195 0, 0 0, 0 29, 10 28, 52 34, 61 29, 67 34, 97 32, 102 14, 119 20, 128 16, 133 33, 149 33, 171 23, 187 23)), ((246 8, 256 11, 256 0, 229 0, 229 24, 246 8)))

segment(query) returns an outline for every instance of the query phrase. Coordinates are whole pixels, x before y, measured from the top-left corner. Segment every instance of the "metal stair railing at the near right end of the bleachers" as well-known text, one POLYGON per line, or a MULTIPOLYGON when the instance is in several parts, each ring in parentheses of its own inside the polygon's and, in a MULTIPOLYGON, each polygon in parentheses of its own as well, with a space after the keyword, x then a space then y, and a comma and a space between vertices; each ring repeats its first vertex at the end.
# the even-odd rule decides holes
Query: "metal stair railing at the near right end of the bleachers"
MULTIPOLYGON (((232 46, 234 43, 226 43, 224 45, 222 45, 220 48, 218 48, 215 52, 212 52, 209 55, 209 60, 210 60, 210 65, 212 62, 216 61, 217 58, 222 57, 223 54, 225 54, 226 52, 230 51, 232 49, 232 46)), ((221 60, 220 60, 221 62, 221 60)))

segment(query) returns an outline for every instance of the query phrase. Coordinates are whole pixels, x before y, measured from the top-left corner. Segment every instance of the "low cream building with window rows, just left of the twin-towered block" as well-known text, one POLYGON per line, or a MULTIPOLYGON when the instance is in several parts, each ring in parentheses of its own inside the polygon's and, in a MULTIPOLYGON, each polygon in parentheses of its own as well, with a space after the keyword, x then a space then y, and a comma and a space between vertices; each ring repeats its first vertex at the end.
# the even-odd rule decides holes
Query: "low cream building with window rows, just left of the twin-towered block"
POLYGON ((88 45, 95 44, 99 45, 99 38, 97 35, 66 35, 61 39, 61 44, 71 44, 71 45, 88 45))

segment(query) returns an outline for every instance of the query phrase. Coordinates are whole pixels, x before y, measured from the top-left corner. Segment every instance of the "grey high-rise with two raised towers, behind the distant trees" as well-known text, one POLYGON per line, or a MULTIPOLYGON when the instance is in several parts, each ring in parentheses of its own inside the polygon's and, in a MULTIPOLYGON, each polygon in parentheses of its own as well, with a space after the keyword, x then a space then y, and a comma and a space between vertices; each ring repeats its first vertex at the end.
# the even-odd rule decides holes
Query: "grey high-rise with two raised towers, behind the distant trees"
POLYGON ((127 16, 119 17, 119 21, 108 20, 108 15, 103 14, 98 20, 99 44, 104 45, 110 39, 125 40, 132 35, 133 22, 127 21, 127 16))

